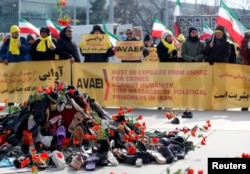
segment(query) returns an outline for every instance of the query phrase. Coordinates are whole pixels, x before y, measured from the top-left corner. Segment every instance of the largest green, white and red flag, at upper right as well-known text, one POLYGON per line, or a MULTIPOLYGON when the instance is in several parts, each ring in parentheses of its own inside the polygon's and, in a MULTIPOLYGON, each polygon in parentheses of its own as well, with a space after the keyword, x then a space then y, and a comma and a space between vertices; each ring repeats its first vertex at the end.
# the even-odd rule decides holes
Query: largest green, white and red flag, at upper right
POLYGON ((224 26, 234 42, 236 42, 238 45, 241 45, 246 28, 240 23, 234 12, 228 8, 223 1, 220 3, 219 12, 216 17, 216 23, 217 25, 224 26))

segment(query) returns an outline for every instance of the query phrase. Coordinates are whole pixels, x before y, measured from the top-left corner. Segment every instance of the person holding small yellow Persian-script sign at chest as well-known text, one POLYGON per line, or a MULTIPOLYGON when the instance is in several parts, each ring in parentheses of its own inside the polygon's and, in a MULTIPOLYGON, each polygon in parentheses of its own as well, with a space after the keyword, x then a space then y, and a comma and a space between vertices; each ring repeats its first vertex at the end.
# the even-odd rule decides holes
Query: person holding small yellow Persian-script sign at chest
MULTIPOLYGON (((104 35, 105 33, 103 32, 102 28, 99 25, 94 25, 90 34, 91 35, 104 35)), ((101 39, 102 43, 100 42, 100 40, 97 40, 96 43, 93 43, 96 45, 104 44, 105 52, 98 52, 98 51, 96 51, 94 53, 84 52, 84 47, 86 47, 88 40, 93 40, 93 38, 88 38, 86 40, 83 40, 80 43, 80 52, 81 52, 81 55, 84 56, 84 62, 108 62, 109 57, 114 56, 112 44, 109 41, 108 37, 106 37, 106 40, 101 39), (99 42, 99 43, 97 43, 97 42, 99 42)), ((91 44, 91 43, 89 42, 89 44, 91 44)), ((95 47, 95 48, 97 48, 97 47, 95 47)), ((102 48, 100 48, 99 50, 102 50, 102 48)))

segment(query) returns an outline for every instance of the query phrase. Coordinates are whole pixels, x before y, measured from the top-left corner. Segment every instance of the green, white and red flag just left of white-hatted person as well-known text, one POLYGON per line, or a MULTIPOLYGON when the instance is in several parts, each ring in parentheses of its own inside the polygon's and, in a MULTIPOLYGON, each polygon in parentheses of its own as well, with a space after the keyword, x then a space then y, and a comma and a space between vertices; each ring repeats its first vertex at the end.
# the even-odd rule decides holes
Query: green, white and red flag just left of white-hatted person
MULTIPOLYGON (((153 27, 151 29, 151 36, 155 38, 161 38, 162 33, 166 31, 170 32, 173 35, 173 32, 170 29, 168 29, 160 20, 155 19, 153 27)), ((174 35, 173 35, 173 40, 176 45, 179 45, 179 42, 174 35)))

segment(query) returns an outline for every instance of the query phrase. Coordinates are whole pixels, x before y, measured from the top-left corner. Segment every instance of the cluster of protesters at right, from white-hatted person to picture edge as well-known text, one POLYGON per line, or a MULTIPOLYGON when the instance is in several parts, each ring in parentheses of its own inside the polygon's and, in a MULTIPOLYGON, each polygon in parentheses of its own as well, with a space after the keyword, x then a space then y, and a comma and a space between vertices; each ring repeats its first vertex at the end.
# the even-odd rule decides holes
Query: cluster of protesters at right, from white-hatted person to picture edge
POLYGON ((211 38, 205 42, 201 41, 198 30, 190 27, 188 36, 182 34, 177 37, 176 44, 171 32, 164 32, 160 43, 156 46, 160 62, 214 62, 236 63, 237 54, 242 59, 243 64, 248 64, 246 54, 250 49, 246 46, 249 41, 249 32, 246 32, 245 39, 241 47, 235 46, 227 35, 223 26, 217 26, 211 38))

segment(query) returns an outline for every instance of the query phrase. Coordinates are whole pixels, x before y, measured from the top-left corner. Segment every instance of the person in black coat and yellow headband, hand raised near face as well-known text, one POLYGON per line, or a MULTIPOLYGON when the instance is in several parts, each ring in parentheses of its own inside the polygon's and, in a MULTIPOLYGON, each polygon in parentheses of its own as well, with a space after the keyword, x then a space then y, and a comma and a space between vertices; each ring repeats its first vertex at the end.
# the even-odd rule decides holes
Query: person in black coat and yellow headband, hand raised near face
POLYGON ((211 40, 208 41, 203 54, 206 61, 213 65, 214 62, 228 63, 230 56, 230 45, 223 26, 217 26, 211 40))

